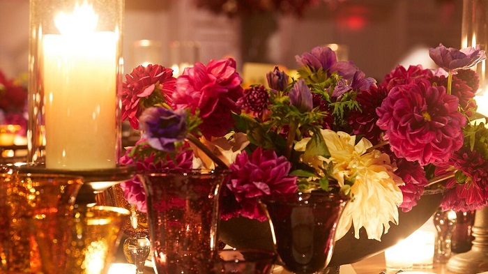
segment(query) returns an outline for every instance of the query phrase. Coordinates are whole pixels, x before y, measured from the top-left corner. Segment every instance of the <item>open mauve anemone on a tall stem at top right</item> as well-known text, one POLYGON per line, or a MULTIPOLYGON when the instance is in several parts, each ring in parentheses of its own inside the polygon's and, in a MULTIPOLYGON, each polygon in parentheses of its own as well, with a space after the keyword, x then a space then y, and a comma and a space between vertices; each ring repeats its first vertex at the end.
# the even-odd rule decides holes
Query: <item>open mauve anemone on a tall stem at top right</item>
POLYGON ((445 47, 442 43, 439 44, 439 47, 431 47, 429 56, 437 66, 452 74, 456 74, 457 70, 471 68, 478 62, 487 59, 485 51, 480 50, 480 45, 458 50, 453 47, 445 47))

